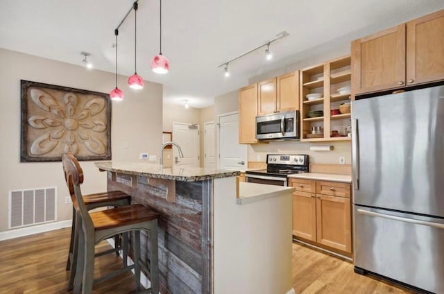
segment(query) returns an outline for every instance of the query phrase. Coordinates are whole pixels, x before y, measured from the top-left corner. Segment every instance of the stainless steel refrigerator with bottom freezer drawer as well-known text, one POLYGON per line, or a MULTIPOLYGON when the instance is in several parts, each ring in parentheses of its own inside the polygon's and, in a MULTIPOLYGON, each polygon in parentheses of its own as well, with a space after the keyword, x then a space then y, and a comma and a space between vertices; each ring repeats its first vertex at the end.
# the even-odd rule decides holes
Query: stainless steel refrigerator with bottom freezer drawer
POLYGON ((355 271, 444 293, 444 86, 352 101, 355 271))

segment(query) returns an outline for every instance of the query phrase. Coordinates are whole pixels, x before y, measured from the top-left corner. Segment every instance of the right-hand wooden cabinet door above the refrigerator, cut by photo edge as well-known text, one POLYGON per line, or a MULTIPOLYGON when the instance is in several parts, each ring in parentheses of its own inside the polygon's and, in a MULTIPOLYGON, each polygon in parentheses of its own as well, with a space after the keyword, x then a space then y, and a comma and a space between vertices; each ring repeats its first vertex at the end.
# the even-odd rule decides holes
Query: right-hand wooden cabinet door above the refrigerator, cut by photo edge
POLYGON ((407 22, 407 85, 444 79, 444 10, 407 22))

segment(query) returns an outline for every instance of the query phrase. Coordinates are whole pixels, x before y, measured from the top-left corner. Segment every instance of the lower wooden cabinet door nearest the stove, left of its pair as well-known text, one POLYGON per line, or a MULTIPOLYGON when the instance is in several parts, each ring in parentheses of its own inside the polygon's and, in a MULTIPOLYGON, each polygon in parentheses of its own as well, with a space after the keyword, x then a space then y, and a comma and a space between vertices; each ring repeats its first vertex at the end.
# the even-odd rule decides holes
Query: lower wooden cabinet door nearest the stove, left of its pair
POLYGON ((316 195, 293 193, 293 235, 316 241, 316 195))

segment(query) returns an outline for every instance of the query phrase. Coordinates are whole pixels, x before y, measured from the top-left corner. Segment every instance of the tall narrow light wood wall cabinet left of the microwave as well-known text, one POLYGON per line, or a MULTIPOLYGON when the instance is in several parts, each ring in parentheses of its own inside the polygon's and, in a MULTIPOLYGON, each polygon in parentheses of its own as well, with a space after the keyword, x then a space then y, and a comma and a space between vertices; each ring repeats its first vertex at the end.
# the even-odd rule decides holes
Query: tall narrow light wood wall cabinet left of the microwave
POLYGON ((239 144, 255 144, 257 84, 239 89, 239 144))

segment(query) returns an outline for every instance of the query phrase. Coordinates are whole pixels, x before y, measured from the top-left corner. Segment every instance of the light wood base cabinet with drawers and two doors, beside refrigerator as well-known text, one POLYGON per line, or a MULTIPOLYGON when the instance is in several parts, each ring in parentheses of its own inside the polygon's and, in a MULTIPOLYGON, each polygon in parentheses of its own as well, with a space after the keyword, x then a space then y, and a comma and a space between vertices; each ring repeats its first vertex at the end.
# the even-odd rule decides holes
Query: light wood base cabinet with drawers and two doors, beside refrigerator
POLYGON ((290 179, 296 239, 352 252, 350 184, 290 179))

